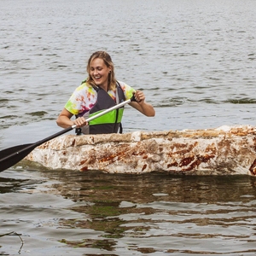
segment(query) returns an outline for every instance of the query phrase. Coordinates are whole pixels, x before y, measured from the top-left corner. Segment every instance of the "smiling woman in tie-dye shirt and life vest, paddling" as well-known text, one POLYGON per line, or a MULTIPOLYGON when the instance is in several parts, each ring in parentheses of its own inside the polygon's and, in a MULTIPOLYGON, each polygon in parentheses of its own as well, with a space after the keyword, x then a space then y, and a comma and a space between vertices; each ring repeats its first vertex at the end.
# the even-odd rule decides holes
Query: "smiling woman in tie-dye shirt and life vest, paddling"
POLYGON ((76 125, 80 128, 79 132, 84 134, 118 132, 121 130, 123 108, 106 113, 90 121, 90 124, 86 119, 92 114, 130 99, 133 95, 136 101, 129 103, 131 107, 146 116, 154 116, 154 108, 145 101, 143 91, 134 90, 115 79, 113 62, 107 52, 96 51, 90 56, 87 73, 88 79, 73 92, 56 120, 57 125, 62 128, 76 125), (77 118, 71 120, 73 115, 77 118))

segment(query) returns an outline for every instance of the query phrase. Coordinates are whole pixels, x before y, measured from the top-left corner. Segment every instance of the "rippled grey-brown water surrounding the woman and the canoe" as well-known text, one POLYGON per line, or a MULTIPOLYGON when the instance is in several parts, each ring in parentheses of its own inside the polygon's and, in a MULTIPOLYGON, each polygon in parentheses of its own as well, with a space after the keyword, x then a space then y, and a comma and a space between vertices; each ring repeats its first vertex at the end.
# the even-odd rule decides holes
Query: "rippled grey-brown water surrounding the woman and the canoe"
MULTIPOLYGON (((0 149, 60 131, 55 119, 112 56, 156 116, 124 131, 255 125, 253 0, 1 0, 0 149)), ((0 255, 254 255, 254 177, 0 174, 0 255)))

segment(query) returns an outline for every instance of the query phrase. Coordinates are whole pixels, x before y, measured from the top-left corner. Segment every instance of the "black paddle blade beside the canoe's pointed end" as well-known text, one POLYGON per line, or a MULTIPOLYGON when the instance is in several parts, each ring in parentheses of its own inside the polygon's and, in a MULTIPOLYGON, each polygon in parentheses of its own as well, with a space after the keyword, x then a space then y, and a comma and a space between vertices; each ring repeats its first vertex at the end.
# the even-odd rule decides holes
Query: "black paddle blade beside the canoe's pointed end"
POLYGON ((23 144, 0 151, 0 172, 20 162, 27 154, 31 153, 37 144, 23 144))

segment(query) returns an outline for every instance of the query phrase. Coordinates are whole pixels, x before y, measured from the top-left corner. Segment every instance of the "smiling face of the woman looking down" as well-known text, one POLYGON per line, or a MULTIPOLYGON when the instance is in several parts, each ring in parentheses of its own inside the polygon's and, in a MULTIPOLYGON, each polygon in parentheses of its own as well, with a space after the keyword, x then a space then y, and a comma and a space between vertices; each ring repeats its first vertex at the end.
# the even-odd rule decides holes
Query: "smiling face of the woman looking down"
POLYGON ((105 62, 96 58, 90 61, 90 76, 96 85, 108 90, 108 74, 111 72, 111 67, 107 67, 105 62))

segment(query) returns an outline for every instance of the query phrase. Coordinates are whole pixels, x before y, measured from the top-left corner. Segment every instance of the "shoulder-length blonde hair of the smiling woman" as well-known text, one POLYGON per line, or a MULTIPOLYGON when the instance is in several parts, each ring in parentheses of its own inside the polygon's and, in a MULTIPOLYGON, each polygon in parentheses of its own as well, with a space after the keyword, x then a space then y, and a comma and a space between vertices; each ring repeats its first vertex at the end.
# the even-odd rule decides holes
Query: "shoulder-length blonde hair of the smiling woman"
POLYGON ((87 63, 87 73, 88 73, 87 83, 96 85, 94 83, 92 77, 90 76, 90 62, 97 58, 102 59, 107 67, 111 67, 111 71, 108 74, 108 90, 114 90, 116 87, 117 81, 114 77, 113 61, 112 61, 110 55, 108 55, 108 53, 106 51, 99 50, 99 51, 96 51, 95 53, 93 53, 92 55, 90 55, 90 58, 87 63))

